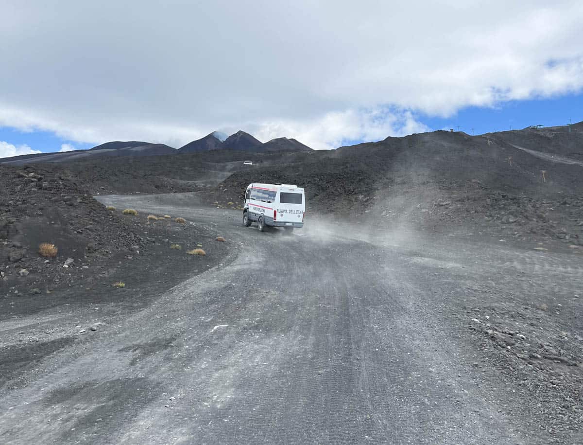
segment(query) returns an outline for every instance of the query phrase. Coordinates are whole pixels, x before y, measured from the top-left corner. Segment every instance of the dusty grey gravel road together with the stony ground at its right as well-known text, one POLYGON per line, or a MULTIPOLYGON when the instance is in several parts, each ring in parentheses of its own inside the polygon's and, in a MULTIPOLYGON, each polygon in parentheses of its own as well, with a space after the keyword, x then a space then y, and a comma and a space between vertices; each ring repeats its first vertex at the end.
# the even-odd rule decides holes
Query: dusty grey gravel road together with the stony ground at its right
POLYGON ((261 233, 188 195, 101 200, 184 215, 237 253, 6 383, 2 443, 583 441, 581 255, 309 215, 261 233), (551 339, 574 365, 517 356, 551 339))

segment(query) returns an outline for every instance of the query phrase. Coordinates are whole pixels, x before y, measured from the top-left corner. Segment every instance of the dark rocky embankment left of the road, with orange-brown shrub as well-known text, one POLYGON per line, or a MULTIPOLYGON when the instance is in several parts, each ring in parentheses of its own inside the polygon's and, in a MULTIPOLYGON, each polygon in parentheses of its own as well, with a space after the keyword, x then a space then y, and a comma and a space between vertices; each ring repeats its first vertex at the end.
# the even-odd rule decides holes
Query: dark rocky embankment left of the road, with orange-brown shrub
POLYGON ((69 173, 0 167, 0 294, 72 286, 93 263, 142 244, 69 173), (55 251, 41 255, 43 243, 55 251))

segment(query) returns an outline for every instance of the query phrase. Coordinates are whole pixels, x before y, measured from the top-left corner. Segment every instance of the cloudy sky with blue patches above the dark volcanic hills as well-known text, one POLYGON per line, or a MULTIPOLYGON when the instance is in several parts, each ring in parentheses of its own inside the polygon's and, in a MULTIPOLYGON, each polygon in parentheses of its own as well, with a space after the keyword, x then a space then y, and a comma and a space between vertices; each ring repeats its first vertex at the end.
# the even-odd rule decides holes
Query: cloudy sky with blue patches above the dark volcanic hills
POLYGON ((0 0, 0 157, 583 120, 583 2, 0 0))

